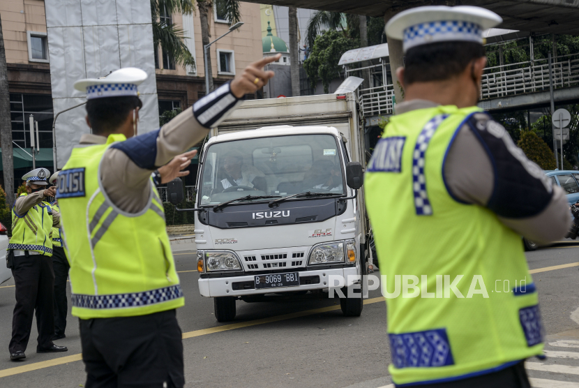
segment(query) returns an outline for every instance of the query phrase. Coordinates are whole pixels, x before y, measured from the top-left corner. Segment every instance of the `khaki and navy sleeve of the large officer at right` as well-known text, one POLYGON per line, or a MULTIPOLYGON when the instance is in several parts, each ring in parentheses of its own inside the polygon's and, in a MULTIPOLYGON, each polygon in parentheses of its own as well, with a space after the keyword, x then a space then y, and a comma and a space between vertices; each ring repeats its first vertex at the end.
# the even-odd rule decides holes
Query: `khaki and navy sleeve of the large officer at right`
POLYGON ((475 114, 458 130, 443 174, 456 200, 490 209, 504 225, 539 244, 564 237, 571 227, 562 189, 552 186, 541 167, 486 114, 475 114))

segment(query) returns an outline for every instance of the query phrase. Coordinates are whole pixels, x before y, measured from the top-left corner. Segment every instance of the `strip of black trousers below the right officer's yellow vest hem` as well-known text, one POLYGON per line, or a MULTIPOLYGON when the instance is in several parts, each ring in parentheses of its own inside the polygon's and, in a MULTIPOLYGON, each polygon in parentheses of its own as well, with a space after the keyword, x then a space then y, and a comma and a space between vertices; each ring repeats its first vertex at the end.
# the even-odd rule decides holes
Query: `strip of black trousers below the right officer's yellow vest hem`
POLYGON ((531 388, 525 361, 486 375, 437 384, 416 385, 413 388, 531 388))

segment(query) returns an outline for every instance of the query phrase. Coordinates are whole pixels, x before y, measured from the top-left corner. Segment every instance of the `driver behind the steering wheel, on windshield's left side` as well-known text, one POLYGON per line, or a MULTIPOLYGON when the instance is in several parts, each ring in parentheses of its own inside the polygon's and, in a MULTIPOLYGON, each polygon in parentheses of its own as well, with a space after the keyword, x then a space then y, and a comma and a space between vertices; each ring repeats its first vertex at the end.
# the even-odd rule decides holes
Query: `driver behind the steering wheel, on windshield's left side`
POLYGON ((253 165, 244 164, 243 154, 236 150, 231 151, 225 157, 219 183, 222 192, 234 186, 245 186, 254 190, 266 191, 265 174, 253 165))

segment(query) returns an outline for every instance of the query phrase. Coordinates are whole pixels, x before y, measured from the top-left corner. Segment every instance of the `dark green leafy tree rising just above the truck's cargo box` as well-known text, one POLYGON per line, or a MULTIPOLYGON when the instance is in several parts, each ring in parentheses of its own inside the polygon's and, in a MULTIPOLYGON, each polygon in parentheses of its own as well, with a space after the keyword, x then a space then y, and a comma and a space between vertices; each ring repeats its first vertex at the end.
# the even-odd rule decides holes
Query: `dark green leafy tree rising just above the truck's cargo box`
POLYGON ((329 93, 330 82, 340 75, 338 61, 347 50, 356 48, 358 42, 336 30, 324 31, 315 39, 310 57, 303 61, 303 68, 315 89, 318 77, 324 85, 324 93, 329 93))

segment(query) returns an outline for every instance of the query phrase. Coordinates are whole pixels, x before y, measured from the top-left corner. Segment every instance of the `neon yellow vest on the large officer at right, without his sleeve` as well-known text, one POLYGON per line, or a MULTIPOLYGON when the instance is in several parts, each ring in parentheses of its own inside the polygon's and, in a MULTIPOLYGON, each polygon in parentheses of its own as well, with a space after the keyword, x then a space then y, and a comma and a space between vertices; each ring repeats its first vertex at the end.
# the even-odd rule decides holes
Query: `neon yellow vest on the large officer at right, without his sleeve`
POLYGON ((444 181, 447 151, 474 112, 441 106, 397 114, 368 163, 366 208, 386 274, 397 386, 489 373, 542 352, 520 236, 492 211, 453 200, 444 181))

